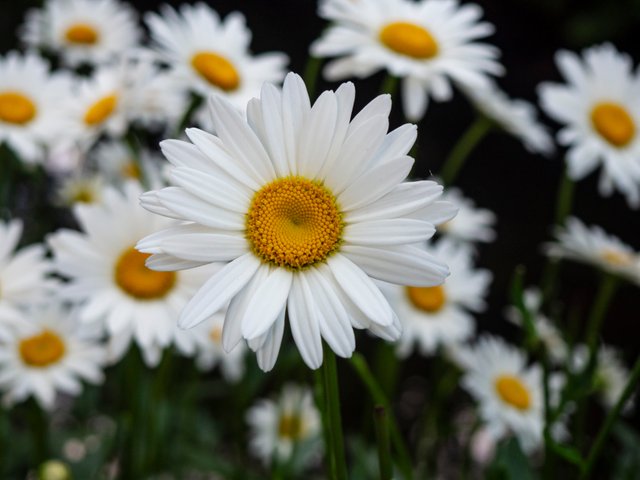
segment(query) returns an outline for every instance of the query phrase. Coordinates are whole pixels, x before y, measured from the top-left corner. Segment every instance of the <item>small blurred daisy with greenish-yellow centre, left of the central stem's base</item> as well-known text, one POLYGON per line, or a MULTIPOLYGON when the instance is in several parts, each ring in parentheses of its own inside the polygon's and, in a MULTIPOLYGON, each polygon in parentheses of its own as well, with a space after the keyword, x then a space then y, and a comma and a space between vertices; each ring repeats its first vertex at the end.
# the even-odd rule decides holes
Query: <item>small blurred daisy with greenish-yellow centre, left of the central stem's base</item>
POLYGON ((277 401, 259 400, 246 419, 251 453, 266 465, 274 459, 287 462, 303 450, 302 445, 313 447, 307 451, 322 451, 320 413, 309 388, 287 384, 277 401))

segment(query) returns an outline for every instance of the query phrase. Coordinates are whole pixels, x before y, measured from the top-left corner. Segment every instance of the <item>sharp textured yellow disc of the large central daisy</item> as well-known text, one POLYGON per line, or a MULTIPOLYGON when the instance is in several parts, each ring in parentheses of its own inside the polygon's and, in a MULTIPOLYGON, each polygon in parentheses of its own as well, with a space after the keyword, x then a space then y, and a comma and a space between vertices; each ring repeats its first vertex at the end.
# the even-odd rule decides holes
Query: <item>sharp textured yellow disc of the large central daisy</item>
POLYGON ((336 199, 306 178, 279 178, 262 187, 246 221, 255 254, 280 267, 309 267, 340 246, 343 223, 336 199))

